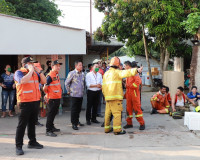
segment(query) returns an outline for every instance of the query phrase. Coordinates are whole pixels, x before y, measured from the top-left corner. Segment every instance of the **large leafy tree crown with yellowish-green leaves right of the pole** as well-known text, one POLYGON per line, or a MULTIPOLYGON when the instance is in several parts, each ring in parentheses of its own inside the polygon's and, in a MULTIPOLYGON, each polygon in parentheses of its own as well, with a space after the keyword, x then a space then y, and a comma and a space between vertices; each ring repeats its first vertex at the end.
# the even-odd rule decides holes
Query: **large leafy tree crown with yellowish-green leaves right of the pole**
POLYGON ((95 7, 105 14, 99 29, 104 39, 116 36, 134 54, 144 54, 146 43, 148 56, 159 54, 161 70, 167 69, 170 57, 191 52, 186 43, 191 34, 181 24, 199 11, 199 5, 199 0, 95 0, 95 7))

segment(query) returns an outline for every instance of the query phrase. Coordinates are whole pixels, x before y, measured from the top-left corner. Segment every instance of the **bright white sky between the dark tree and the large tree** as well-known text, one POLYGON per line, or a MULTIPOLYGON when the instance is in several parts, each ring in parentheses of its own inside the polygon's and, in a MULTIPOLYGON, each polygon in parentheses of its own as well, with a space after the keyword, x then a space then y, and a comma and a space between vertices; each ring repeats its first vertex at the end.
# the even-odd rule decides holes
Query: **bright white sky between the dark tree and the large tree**
MULTIPOLYGON (((55 0, 55 2, 64 14, 63 18, 59 18, 61 25, 90 31, 90 0, 55 0)), ((92 30, 95 31, 101 26, 104 14, 98 12, 94 5, 92 13, 92 30)))

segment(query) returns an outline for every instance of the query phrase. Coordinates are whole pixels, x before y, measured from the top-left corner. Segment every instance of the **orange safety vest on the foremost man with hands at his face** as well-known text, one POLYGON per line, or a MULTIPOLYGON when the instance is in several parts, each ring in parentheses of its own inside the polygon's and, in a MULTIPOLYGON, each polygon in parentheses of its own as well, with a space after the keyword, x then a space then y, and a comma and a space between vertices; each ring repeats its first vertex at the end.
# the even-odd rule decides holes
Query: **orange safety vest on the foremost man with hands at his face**
MULTIPOLYGON (((28 73, 26 68, 20 68, 18 71, 21 71, 24 75, 28 73)), ((41 93, 39 89, 39 78, 35 71, 28 83, 21 84, 17 81, 15 81, 15 83, 17 102, 34 102, 40 100, 41 93)))

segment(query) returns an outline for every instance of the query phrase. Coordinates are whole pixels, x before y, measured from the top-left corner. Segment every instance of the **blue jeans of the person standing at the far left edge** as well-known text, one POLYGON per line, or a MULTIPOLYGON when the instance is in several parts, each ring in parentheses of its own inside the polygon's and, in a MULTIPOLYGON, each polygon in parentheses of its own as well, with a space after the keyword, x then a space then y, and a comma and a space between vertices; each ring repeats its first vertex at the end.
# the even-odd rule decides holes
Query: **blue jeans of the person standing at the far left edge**
POLYGON ((6 111, 8 98, 9 98, 9 111, 12 111, 14 107, 15 96, 16 96, 15 90, 11 90, 11 91, 2 90, 1 96, 2 96, 2 112, 6 111))

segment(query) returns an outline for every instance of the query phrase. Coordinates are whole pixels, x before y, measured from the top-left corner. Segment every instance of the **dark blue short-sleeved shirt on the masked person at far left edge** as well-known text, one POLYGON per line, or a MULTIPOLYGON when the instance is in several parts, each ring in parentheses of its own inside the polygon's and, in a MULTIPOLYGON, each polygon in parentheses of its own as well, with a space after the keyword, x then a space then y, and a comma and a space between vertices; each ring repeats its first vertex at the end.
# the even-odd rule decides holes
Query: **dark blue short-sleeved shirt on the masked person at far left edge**
POLYGON ((5 91, 11 91, 11 90, 14 90, 13 89, 13 84, 14 84, 14 74, 11 73, 10 75, 7 75, 6 73, 3 73, 1 75, 1 78, 0 78, 0 83, 3 83, 6 88, 3 88, 2 87, 2 90, 5 90, 5 91))

